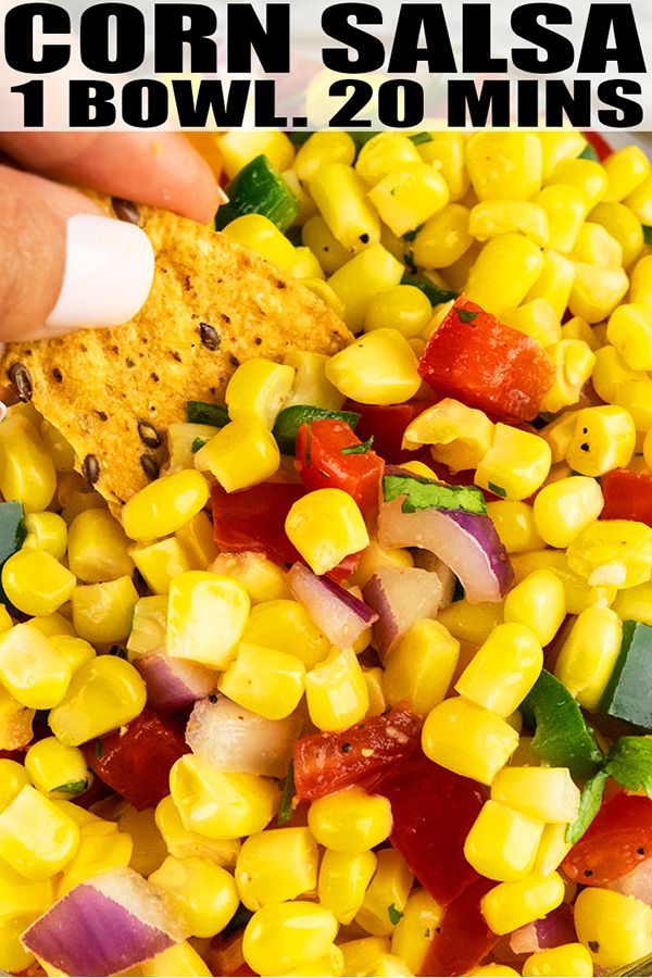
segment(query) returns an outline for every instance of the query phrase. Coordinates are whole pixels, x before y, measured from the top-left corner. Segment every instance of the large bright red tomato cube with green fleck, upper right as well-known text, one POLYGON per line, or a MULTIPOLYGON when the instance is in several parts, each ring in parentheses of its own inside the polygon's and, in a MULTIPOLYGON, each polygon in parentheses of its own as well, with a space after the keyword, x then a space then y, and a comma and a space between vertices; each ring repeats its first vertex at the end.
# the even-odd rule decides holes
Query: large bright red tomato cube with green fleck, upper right
POLYGON ((426 344, 418 372, 438 393, 503 421, 531 421, 554 379, 539 343, 461 296, 426 344))

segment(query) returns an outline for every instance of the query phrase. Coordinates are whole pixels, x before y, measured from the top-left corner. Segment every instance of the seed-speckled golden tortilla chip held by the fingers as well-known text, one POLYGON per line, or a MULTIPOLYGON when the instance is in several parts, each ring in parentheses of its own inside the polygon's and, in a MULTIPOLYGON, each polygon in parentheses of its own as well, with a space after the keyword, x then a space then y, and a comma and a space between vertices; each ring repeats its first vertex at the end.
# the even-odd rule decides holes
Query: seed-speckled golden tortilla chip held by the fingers
POLYGON ((335 353, 352 339, 309 289, 230 238, 139 208, 156 255, 142 310, 115 329, 10 343, 2 377, 24 379, 36 409, 71 442, 79 472, 116 511, 155 477, 165 431, 186 402, 224 402, 243 360, 335 353))

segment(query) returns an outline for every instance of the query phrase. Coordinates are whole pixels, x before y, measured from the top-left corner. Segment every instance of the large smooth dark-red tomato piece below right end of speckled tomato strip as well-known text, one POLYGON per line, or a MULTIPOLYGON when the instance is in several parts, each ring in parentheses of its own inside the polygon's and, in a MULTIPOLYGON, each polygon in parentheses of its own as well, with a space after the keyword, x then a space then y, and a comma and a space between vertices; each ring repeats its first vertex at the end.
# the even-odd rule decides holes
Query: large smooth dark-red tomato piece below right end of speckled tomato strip
POLYGON ((374 791, 391 802, 392 845, 438 903, 450 903, 479 879, 466 862, 464 841, 487 800, 484 788, 419 751, 392 767, 374 791))

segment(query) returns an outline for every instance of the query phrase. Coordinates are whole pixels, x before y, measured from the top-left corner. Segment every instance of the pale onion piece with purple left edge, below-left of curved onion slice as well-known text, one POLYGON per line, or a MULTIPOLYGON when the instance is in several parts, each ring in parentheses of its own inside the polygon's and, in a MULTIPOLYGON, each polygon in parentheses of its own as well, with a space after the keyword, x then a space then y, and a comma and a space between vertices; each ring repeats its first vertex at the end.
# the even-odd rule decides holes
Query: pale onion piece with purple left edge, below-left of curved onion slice
POLYGON ((390 645, 421 618, 434 618, 441 599, 436 574, 417 567, 378 567, 363 588, 364 600, 378 614, 374 648, 384 660, 390 645))

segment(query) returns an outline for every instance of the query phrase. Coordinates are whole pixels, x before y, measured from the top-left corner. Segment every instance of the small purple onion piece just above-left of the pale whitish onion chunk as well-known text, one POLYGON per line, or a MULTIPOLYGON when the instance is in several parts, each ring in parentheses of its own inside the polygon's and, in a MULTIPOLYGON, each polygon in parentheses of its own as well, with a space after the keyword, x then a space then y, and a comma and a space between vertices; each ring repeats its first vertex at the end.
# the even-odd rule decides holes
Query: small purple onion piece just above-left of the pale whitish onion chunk
POLYGON ((164 651, 137 659, 134 665, 145 679, 147 703, 155 713, 174 713, 208 697, 217 685, 212 669, 195 662, 171 659, 164 651))

